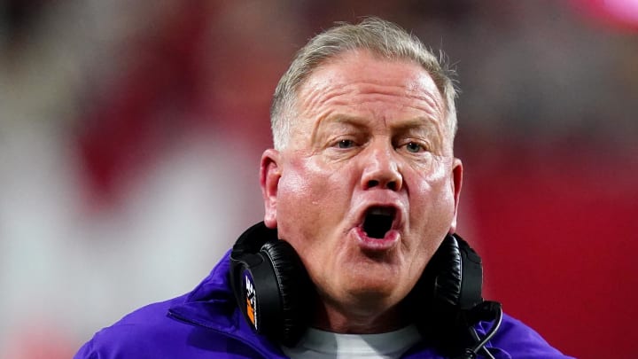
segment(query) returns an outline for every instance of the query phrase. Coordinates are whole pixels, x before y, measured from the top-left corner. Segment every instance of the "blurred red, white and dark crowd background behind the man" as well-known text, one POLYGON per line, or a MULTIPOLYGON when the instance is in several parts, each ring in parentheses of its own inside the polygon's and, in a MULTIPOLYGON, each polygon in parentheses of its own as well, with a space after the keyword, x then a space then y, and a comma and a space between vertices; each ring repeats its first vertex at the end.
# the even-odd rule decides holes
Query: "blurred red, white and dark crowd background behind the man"
POLYGON ((0 2, 0 358, 70 357, 197 285, 261 220, 268 106, 294 51, 364 15, 456 69, 459 230, 486 296, 567 354, 629 358, 636 3, 0 2))

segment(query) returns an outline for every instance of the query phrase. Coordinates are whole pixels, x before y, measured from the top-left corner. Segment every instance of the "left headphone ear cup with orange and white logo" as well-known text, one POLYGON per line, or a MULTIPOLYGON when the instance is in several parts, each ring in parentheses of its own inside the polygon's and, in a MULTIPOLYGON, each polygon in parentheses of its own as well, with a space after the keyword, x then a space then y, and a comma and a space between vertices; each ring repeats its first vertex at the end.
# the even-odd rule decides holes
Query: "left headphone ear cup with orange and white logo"
POLYGON ((277 231, 259 222, 237 238, 230 286, 248 324, 291 347, 307 327, 314 286, 299 255, 277 231))

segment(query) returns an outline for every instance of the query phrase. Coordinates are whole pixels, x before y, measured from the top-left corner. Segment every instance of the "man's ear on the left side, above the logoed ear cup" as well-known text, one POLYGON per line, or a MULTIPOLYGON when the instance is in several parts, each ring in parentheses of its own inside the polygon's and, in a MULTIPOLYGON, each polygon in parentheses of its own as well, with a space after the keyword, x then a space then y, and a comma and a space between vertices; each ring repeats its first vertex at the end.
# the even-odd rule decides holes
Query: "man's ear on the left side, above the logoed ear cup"
POLYGON ((276 228, 276 194, 281 178, 280 153, 272 148, 261 155, 260 184, 264 199, 264 223, 270 229, 276 228))

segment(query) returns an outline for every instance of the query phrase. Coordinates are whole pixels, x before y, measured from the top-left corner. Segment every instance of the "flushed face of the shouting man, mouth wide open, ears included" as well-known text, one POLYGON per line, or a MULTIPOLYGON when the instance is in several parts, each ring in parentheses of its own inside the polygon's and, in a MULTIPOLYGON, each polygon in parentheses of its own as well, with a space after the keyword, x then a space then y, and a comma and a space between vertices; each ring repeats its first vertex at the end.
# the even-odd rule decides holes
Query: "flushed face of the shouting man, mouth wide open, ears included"
POLYGON ((307 78, 292 121, 261 160, 265 222, 328 316, 387 313, 455 230, 462 165, 440 92, 415 63, 350 51, 307 78))

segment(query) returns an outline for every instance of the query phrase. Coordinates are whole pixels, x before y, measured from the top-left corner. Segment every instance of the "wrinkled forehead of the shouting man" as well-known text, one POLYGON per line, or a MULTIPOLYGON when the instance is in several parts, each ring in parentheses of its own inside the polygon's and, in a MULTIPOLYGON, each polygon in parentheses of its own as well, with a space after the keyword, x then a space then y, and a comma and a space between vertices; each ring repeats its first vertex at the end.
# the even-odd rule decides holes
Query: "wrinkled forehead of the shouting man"
MULTIPOLYGON (((442 121, 444 102, 432 77, 411 60, 347 51, 315 68, 297 98, 301 117, 321 121, 331 112, 371 112, 442 121)), ((368 116, 370 113, 350 113, 368 116)))

